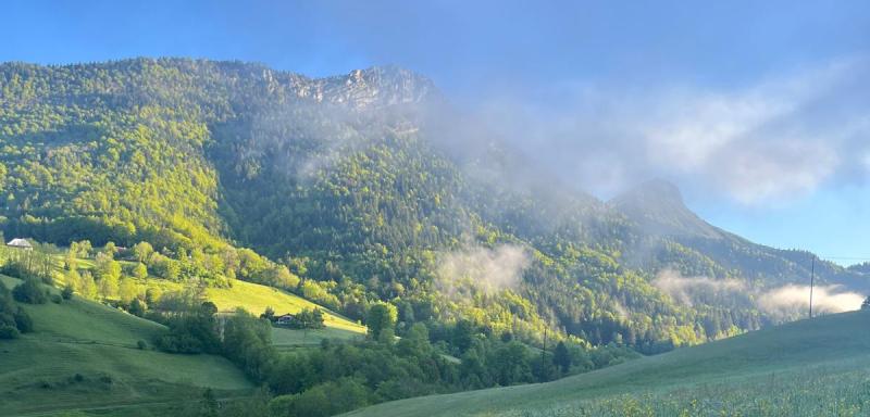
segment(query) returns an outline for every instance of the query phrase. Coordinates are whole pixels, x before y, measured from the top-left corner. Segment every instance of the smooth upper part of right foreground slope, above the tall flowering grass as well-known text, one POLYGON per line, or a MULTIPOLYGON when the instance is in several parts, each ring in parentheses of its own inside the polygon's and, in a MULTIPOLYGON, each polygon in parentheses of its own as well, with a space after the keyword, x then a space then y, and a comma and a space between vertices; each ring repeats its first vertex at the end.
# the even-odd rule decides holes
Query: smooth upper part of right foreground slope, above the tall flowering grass
MULTIPOLYGON (((848 369, 870 367, 870 313, 855 312, 786 324, 699 346, 680 349, 559 381, 434 395, 385 403, 353 416, 560 415, 559 405, 576 407, 586 400, 626 393, 705 392, 766 387, 771 378, 835 379, 848 369)), ((861 377, 865 378, 865 377, 861 377)), ((745 393, 758 395, 757 391, 745 393)), ((760 391, 763 392, 763 391, 760 391)), ((703 395, 718 395, 707 393, 703 395)), ((566 415, 574 415, 569 412, 566 415)), ((631 415, 631 414, 629 414, 631 415)))

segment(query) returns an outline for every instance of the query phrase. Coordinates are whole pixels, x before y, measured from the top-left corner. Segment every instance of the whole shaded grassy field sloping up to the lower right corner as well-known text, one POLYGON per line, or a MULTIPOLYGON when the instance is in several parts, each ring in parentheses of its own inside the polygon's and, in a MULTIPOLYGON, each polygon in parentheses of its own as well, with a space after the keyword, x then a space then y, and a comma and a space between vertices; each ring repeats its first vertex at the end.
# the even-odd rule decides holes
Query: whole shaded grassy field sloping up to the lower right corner
POLYGON ((384 403, 351 416, 867 416, 870 313, 786 324, 559 381, 384 403))

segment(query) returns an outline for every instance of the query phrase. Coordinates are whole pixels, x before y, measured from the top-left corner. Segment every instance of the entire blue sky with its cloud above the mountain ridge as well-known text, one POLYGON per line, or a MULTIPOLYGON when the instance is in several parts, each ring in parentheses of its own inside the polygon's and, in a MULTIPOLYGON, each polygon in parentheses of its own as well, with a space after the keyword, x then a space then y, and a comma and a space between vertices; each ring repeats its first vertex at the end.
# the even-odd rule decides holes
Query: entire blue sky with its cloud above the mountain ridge
POLYGON ((866 1, 13 0, 3 9, 0 61, 181 55, 314 76, 409 67, 601 198, 663 177, 701 216, 755 241, 870 258, 866 1))

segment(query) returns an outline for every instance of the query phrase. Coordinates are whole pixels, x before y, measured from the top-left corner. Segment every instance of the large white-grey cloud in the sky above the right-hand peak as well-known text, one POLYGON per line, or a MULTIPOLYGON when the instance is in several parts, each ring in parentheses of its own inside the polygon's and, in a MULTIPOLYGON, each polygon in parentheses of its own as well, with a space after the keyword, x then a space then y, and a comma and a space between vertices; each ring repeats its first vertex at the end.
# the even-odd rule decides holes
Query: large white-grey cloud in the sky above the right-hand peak
POLYGON ((495 98, 483 119, 592 191, 668 177, 758 204, 867 169, 868 72, 870 60, 849 59, 718 89, 563 86, 558 105, 495 98))

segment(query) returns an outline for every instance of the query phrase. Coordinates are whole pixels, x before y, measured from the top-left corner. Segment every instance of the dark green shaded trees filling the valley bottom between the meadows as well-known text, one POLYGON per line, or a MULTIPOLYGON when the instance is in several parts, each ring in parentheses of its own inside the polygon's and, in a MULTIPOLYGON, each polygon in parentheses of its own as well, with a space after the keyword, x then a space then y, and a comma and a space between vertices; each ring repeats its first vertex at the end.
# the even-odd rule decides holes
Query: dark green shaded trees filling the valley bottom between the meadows
POLYGON ((324 340, 318 349, 281 354, 271 343, 265 318, 245 311, 216 316, 213 304, 194 292, 166 294, 164 300, 174 300, 173 309, 162 302, 163 309, 151 317, 170 331, 156 345, 226 356, 268 387, 271 400, 263 416, 331 416, 417 395, 549 381, 636 355, 624 348, 588 350, 564 341, 540 351, 468 321, 430 324, 440 336, 418 323, 395 338, 396 315, 388 304, 371 308, 366 340, 324 340))

